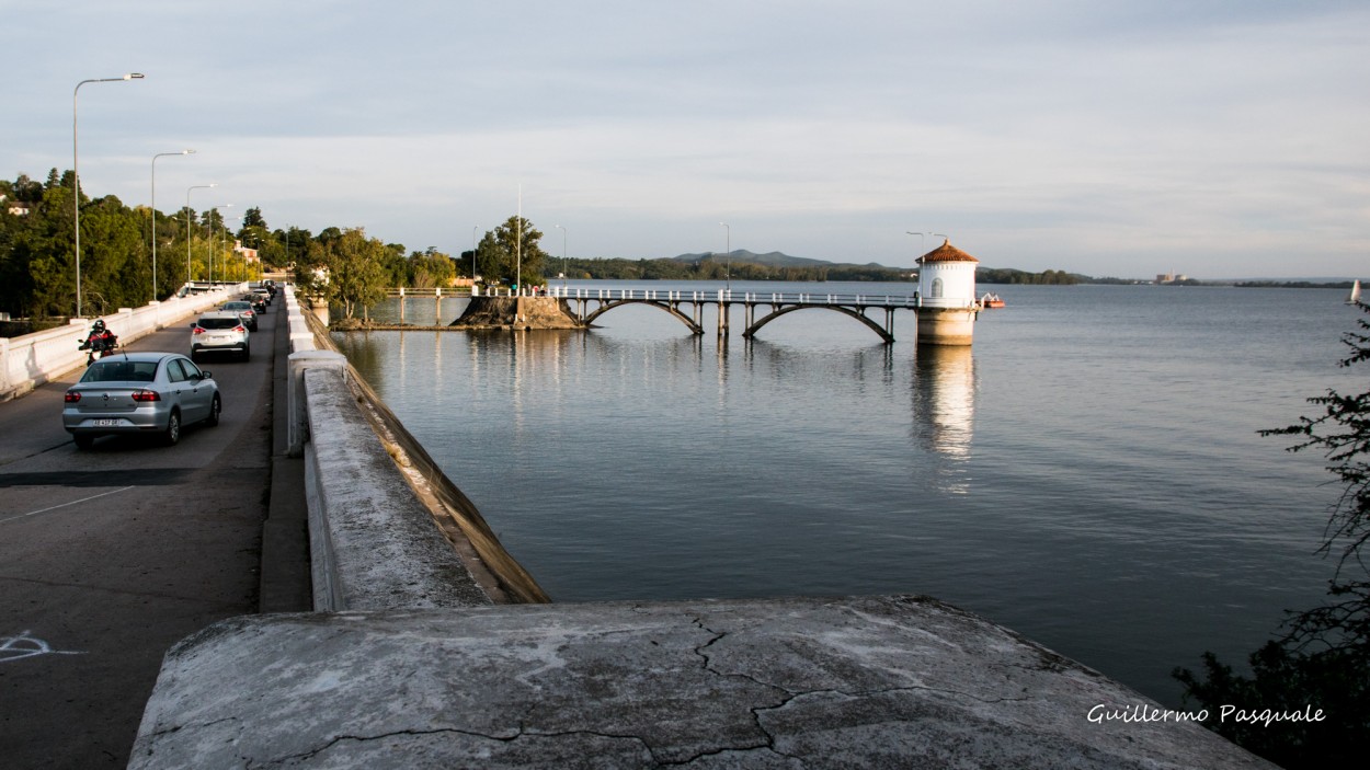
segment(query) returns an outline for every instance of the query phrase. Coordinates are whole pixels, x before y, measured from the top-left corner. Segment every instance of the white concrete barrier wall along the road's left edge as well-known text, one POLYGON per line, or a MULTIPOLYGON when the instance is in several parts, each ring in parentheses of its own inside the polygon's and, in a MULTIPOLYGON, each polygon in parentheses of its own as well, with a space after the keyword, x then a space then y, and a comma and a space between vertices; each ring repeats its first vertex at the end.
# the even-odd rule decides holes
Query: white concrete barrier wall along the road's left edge
MULTIPOLYGON (((203 295, 173 297, 163 303, 148 303, 137 310, 121 307, 118 312, 100 318, 119 337, 132 343, 158 329, 175 323, 188 315, 226 301, 247 290, 247 284, 223 286, 203 295)), ((95 318, 73 321, 67 326, 0 338, 0 401, 22 396, 38 385, 85 364, 85 351, 77 347, 85 340, 95 318)))

